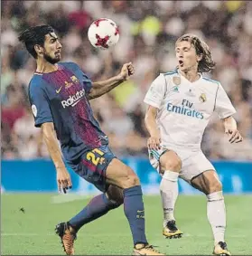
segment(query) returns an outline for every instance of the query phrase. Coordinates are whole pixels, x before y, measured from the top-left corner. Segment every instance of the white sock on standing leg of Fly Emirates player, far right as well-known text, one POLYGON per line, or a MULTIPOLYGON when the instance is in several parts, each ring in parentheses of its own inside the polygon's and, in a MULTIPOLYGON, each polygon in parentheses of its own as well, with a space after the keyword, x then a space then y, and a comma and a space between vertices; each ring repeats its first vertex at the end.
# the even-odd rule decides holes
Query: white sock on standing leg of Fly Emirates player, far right
POLYGON ((213 232, 214 243, 225 242, 226 208, 222 191, 207 195, 208 197, 208 219, 213 232))

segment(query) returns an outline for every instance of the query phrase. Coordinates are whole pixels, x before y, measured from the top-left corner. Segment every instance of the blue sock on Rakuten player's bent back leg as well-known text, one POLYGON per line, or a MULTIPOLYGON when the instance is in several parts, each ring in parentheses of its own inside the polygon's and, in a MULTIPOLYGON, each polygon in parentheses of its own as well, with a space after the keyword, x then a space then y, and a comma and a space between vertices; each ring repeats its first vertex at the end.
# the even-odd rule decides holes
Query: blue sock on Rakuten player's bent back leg
POLYGON ((106 194, 99 194, 92 198, 83 210, 70 219, 69 223, 73 229, 78 232, 83 225, 98 219, 108 211, 115 209, 118 206, 119 204, 112 203, 107 198, 106 194))

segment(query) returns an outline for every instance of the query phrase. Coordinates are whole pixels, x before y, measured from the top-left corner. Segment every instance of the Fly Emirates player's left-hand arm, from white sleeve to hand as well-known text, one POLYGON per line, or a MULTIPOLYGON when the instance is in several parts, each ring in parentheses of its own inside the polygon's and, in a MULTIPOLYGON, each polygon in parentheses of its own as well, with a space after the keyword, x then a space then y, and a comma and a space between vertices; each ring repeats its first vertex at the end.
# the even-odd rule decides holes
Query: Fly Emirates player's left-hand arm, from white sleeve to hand
POLYGON ((145 126, 150 134, 147 146, 150 149, 159 149, 161 144, 160 131, 156 123, 156 115, 160 109, 164 97, 166 82, 163 74, 160 74, 152 83, 145 96, 145 103, 148 105, 145 113, 145 126))

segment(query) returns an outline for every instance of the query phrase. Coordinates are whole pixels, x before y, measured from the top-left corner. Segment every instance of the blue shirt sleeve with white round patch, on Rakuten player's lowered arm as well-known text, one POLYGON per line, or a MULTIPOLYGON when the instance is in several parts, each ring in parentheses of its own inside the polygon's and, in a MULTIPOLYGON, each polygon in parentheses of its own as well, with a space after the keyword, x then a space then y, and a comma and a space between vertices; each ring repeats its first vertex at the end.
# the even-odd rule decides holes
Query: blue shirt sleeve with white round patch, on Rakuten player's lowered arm
POLYGON ((40 128, 43 123, 53 122, 49 99, 40 84, 30 84, 29 99, 33 110, 35 127, 40 128))

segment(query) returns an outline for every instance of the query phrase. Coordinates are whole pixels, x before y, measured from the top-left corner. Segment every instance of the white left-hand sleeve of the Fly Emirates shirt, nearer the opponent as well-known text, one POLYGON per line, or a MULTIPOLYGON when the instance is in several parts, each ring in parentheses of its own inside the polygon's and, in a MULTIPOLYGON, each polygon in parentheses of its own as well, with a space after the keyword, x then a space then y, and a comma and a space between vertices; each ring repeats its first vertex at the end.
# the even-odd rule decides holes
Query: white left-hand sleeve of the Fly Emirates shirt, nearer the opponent
POLYGON ((163 74, 160 74, 151 84, 150 89, 145 95, 144 102, 154 108, 159 109, 163 101, 166 88, 166 81, 163 74))

